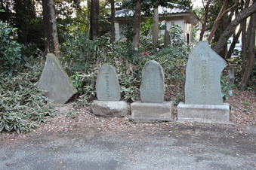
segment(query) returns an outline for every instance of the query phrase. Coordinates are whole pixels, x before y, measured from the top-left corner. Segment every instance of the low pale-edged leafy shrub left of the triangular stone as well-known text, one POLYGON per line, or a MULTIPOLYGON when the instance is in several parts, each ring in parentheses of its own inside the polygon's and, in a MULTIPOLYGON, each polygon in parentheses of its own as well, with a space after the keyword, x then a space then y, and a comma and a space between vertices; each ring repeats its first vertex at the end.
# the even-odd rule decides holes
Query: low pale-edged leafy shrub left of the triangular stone
POLYGON ((16 77, 0 74, 0 132, 29 132, 54 116, 51 103, 35 87, 41 71, 42 64, 35 62, 16 77))

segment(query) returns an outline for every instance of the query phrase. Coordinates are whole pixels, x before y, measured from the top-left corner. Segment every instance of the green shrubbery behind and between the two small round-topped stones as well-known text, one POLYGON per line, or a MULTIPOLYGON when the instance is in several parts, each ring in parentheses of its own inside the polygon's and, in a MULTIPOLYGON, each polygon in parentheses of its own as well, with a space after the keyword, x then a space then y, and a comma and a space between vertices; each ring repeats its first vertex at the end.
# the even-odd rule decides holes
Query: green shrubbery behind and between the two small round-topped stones
POLYGON ((79 90, 77 106, 84 106, 95 98, 96 90, 91 81, 96 80, 97 68, 104 63, 116 67, 122 99, 128 102, 139 99, 141 71, 145 63, 152 59, 164 68, 165 84, 177 87, 177 100, 182 99, 184 94, 180 88, 184 87, 185 66, 190 48, 184 45, 180 36, 175 35, 180 33, 180 28, 176 26, 171 31, 175 41, 170 48, 162 50, 154 47, 145 36, 140 37, 140 48, 134 50, 130 41, 109 44, 109 35, 95 38, 94 41, 79 32, 65 35, 66 43, 61 46, 61 60, 66 65, 66 70, 71 72, 73 82, 79 90))

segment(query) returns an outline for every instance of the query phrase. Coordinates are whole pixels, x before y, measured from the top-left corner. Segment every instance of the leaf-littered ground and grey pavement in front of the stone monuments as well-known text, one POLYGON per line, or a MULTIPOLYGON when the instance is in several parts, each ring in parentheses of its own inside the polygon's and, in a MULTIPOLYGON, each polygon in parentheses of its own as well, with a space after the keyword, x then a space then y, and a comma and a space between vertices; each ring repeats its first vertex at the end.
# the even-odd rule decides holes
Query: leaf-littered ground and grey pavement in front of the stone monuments
POLYGON ((256 169, 255 93, 234 90, 233 125, 132 123, 91 108, 0 134, 0 169, 256 169))

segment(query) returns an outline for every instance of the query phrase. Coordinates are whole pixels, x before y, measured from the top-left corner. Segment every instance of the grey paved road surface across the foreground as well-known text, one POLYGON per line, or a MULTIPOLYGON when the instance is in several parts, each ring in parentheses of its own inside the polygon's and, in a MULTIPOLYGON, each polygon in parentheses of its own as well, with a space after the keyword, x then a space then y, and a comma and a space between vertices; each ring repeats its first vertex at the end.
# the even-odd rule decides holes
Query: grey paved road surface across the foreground
POLYGON ((168 123, 128 132, 74 126, 18 142, 2 138, 0 169, 256 169, 255 137, 255 126, 168 123))

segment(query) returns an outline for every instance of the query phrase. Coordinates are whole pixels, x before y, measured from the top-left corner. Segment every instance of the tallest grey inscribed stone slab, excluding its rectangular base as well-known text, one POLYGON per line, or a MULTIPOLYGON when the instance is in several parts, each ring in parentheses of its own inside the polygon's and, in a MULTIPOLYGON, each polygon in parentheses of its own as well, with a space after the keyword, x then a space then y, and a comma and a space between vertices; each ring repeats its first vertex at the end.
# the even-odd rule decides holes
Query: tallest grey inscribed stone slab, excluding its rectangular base
POLYGON ((208 41, 199 41, 187 62, 184 104, 223 104, 220 79, 226 66, 227 62, 209 47, 208 41))

